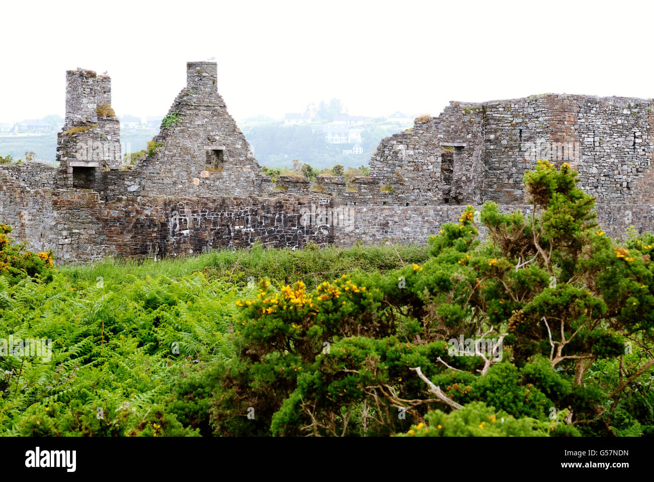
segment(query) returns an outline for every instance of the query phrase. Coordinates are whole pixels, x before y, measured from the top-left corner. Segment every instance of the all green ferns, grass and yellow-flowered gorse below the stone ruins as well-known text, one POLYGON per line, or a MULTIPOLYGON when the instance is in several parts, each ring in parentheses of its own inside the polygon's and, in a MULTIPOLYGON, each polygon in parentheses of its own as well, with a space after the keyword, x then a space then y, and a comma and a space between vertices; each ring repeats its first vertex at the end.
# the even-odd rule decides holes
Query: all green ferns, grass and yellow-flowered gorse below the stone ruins
POLYGON ((428 247, 55 269, 0 226, 0 434, 654 435, 654 235, 576 181, 539 162, 532 213, 428 247))

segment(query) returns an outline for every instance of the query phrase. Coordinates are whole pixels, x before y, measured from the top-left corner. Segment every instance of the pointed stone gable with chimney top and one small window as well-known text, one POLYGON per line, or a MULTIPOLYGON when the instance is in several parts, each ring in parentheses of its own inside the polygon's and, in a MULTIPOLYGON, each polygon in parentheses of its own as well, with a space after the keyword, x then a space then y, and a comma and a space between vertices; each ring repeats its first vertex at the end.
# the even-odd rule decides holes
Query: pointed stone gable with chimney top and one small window
POLYGON ((115 196, 249 196, 261 192, 261 167, 217 90, 215 62, 189 62, 187 85, 169 114, 179 120, 154 138, 152 156, 103 175, 96 189, 115 196), (218 164, 213 150, 222 150, 218 164))

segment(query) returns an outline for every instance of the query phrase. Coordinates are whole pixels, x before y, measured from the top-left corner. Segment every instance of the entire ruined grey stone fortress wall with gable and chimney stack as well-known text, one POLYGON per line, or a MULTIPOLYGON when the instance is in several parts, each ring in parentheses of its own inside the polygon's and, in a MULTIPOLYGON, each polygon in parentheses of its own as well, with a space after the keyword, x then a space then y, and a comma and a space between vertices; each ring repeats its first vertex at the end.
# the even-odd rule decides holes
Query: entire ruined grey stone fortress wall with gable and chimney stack
POLYGON ((425 243, 462 205, 526 205, 536 160, 568 162, 596 196, 610 235, 654 230, 651 99, 545 94, 451 102, 381 141, 370 177, 315 182, 262 176, 226 109, 213 62, 189 62, 186 86, 152 154, 122 166, 111 79, 66 73, 58 167, 0 166, 0 220, 60 262, 176 256, 217 247, 425 243))

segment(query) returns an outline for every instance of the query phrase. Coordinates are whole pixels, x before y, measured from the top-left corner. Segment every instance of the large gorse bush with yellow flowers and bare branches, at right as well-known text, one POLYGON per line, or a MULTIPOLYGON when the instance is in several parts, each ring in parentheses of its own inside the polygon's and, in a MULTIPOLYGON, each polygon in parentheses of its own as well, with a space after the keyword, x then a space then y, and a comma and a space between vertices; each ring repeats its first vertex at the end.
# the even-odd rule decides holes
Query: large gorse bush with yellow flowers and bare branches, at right
POLYGON ((530 215, 469 206, 430 237, 422 264, 344 275, 311 292, 264 282, 239 302, 238 357, 219 367, 216 433, 398 434, 428 423, 432 410, 482 401, 515 419, 555 421, 550 435, 651 430, 644 411, 638 426, 611 421, 621 404, 651 398, 649 383, 644 392, 629 385, 654 364, 654 240, 614 245, 576 181, 569 165, 539 162, 525 176, 530 215), (460 338, 490 352, 480 343, 460 356, 451 349, 460 338), (600 360, 617 368, 613 379, 591 376, 600 360), (239 418, 252 409, 255 419, 239 418))

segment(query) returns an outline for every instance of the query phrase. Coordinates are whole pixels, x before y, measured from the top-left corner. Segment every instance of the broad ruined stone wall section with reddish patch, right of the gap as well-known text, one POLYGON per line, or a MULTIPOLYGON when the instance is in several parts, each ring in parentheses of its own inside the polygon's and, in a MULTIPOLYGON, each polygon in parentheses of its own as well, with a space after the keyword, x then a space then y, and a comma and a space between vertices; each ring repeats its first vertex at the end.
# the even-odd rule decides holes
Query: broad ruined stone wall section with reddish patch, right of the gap
POLYGON ((371 178, 400 193, 400 204, 523 203, 525 171, 547 158, 571 164, 580 186, 600 202, 651 203, 651 111, 649 99, 589 95, 453 102, 438 117, 383 139, 371 178))

